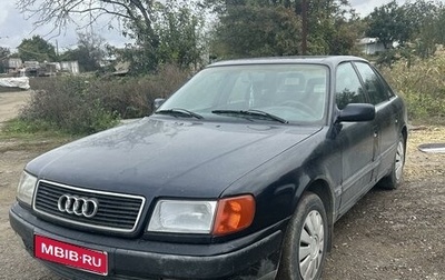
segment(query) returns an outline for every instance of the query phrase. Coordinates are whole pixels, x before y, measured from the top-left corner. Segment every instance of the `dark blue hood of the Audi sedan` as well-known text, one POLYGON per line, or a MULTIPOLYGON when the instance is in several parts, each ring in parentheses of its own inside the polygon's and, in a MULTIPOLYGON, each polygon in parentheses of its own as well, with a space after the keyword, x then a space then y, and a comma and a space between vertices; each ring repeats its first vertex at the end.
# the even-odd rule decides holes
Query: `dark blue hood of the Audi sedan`
POLYGON ((151 198, 217 198, 319 129, 146 118, 62 146, 26 169, 73 187, 151 198))

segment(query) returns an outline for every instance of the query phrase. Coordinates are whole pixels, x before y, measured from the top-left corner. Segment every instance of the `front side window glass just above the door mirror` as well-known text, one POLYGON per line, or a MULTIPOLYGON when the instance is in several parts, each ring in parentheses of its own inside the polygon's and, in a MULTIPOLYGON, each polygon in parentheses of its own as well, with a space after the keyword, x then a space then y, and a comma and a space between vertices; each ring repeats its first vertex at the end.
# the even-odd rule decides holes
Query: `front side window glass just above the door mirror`
POLYGON ((340 110, 349 103, 366 103, 360 80, 349 62, 337 68, 335 99, 340 110))

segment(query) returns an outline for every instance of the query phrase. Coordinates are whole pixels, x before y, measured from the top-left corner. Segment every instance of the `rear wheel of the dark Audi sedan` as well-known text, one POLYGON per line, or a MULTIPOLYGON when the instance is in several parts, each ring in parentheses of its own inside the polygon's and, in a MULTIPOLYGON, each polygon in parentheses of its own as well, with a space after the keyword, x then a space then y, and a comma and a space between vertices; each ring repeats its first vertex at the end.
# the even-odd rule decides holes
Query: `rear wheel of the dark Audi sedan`
POLYGON ((389 174, 382 178, 379 187, 387 190, 395 190, 403 182, 403 169, 405 167, 406 141, 403 134, 398 136, 397 150, 394 154, 394 162, 389 174))

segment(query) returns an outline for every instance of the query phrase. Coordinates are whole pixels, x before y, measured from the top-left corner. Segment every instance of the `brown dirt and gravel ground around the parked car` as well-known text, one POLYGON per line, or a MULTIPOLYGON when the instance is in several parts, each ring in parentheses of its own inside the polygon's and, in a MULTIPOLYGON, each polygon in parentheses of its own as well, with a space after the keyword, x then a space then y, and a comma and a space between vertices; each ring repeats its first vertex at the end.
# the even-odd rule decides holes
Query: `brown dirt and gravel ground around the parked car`
MULTIPOLYGON (((0 124, 28 97, 0 92, 0 124)), ((412 130, 404 184, 372 190, 335 224, 323 279, 445 280, 445 153, 418 151, 425 142, 445 142, 445 128, 412 130)), ((0 279, 60 279, 22 249, 8 221, 23 166, 55 146, 0 140, 0 279)))

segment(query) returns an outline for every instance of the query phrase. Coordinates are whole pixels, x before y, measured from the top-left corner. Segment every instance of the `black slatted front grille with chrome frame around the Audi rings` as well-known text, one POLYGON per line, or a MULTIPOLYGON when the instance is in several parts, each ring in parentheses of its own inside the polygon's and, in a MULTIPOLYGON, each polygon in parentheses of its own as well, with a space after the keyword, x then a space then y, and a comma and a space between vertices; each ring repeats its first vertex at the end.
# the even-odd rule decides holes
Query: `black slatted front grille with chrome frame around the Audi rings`
POLYGON ((40 180, 36 191, 33 209, 44 217, 62 220, 71 224, 129 233, 135 231, 144 204, 144 197, 80 189, 40 180), (91 218, 87 218, 60 211, 58 201, 63 194, 95 199, 98 202, 97 213, 91 218))

